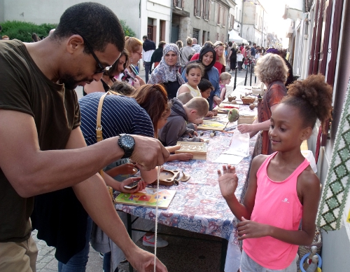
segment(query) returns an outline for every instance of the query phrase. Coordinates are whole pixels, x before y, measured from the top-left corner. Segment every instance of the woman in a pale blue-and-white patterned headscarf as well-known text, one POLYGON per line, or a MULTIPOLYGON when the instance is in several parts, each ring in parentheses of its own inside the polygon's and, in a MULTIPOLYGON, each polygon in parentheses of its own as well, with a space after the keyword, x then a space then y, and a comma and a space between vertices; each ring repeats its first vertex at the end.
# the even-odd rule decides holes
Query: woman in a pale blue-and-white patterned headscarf
POLYGON ((174 43, 167 43, 163 49, 163 57, 153 70, 148 84, 163 84, 167 90, 168 99, 176 97, 177 90, 185 83, 181 78, 179 48, 174 43))

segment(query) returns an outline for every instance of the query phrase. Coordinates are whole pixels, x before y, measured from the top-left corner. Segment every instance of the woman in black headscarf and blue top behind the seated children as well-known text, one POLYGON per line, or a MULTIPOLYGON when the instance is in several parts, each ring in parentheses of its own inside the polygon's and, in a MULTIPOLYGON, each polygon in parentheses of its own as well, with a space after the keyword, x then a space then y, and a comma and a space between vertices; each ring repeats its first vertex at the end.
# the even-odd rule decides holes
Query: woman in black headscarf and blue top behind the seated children
MULTIPOLYGON (((211 91, 209 96, 209 111, 213 109, 213 104, 219 105, 221 103, 220 99, 220 85, 219 85, 219 73, 218 69, 214 67, 216 62, 216 51, 214 50, 214 46, 211 44, 207 44, 203 46, 202 50, 200 50, 200 58, 198 60, 193 60, 188 63, 201 63, 204 66, 204 76, 202 79, 207 79, 214 86, 214 90, 211 91)), ((184 81, 186 79, 186 67, 183 69, 182 78, 184 81)))

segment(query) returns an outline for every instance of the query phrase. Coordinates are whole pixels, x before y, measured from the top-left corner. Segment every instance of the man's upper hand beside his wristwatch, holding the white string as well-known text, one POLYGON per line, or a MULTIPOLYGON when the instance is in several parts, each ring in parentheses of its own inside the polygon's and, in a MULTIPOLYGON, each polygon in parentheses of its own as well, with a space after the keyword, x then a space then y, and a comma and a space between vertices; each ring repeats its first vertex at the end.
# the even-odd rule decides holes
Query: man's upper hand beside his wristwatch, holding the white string
POLYGON ((139 135, 132 137, 135 140, 135 147, 130 158, 137 163, 140 170, 151 170, 157 165, 163 165, 169 158, 169 151, 160 141, 139 135))

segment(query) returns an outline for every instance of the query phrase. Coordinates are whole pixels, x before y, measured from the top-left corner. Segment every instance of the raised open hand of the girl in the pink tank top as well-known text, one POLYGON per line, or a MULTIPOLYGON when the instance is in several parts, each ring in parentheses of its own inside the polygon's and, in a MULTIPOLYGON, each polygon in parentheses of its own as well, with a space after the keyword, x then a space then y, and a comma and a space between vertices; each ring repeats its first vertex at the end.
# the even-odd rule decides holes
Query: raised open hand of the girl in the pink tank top
POLYGON ((223 165, 223 174, 218 170, 218 183, 223 198, 231 198, 237 189, 238 177, 235 166, 223 165))

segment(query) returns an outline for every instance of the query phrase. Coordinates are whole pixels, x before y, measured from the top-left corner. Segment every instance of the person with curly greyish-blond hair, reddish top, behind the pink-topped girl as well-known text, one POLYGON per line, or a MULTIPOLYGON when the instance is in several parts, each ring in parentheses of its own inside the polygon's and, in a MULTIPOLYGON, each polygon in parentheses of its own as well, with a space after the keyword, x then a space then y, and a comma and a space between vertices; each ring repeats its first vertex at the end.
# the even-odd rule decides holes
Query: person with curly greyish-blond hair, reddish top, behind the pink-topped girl
POLYGON ((269 118, 271 118, 276 105, 287 94, 284 83, 287 79, 288 67, 279 55, 267 54, 260 57, 255 65, 254 72, 258 79, 267 86, 267 91, 262 97, 262 101, 258 102, 258 120, 255 120, 252 124, 238 125, 238 130, 241 133, 251 132, 251 137, 262 130, 262 144, 261 147, 257 147, 258 153, 272 154, 268 135, 271 124, 269 118), (261 152, 259 152, 260 148, 261 152))

